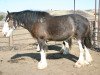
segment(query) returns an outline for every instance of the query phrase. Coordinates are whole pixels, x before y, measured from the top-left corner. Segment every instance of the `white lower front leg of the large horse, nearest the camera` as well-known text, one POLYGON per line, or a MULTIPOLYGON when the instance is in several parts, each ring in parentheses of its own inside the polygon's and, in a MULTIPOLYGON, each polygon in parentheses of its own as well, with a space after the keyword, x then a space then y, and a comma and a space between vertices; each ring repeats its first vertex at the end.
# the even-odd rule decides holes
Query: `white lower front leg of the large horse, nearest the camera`
POLYGON ((40 55, 41 55, 41 60, 38 63, 38 69, 44 69, 47 67, 47 61, 46 61, 46 54, 43 49, 41 50, 40 55))

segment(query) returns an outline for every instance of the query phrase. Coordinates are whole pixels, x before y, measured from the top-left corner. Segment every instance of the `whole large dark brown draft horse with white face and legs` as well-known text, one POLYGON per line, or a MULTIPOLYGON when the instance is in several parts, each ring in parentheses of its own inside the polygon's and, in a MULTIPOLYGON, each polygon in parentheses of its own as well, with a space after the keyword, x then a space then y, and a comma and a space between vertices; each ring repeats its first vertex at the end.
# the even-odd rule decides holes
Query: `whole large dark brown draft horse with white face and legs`
MULTIPOLYGON (((44 11, 25 10, 11 12, 7 14, 3 34, 9 37, 18 26, 27 29, 30 34, 38 41, 40 47, 41 60, 38 69, 47 67, 46 60, 46 41, 65 41, 72 37, 76 38, 80 55, 75 63, 76 67, 90 64, 92 57, 88 48, 91 48, 91 32, 89 21, 78 14, 62 16, 51 16, 44 11)), ((66 44, 66 43, 65 43, 66 44)))

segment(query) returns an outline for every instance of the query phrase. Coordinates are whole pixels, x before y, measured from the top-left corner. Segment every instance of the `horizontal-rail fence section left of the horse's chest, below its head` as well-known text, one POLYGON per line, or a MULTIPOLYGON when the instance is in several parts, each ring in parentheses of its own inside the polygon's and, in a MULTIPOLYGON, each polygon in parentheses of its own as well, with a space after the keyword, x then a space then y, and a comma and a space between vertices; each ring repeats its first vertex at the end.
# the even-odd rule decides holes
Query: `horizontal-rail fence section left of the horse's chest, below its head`
POLYGON ((11 37, 6 38, 2 35, 2 27, 0 27, 0 50, 30 50, 36 41, 30 33, 22 28, 17 28, 11 37))

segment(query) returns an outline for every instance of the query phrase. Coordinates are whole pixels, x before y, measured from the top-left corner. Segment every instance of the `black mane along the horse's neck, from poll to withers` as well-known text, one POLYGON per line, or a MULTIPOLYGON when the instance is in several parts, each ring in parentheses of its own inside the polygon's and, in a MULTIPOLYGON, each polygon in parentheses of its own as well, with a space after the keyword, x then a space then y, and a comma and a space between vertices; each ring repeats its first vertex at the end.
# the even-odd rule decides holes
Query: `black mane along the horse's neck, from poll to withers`
POLYGON ((18 24, 24 25, 32 25, 34 22, 39 21, 41 18, 46 18, 50 16, 49 13, 45 11, 32 11, 32 10, 24 10, 20 12, 12 12, 10 13, 13 16, 13 20, 17 21, 18 24))

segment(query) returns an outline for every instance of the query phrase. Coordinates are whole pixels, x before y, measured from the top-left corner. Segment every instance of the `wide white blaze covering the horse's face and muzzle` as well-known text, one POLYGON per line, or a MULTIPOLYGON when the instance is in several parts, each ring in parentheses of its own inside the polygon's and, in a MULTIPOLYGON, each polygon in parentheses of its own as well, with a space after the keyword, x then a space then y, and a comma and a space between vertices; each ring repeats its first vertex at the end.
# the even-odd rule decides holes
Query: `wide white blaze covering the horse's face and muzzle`
POLYGON ((6 37, 10 37, 10 35, 13 32, 13 28, 9 28, 8 22, 4 23, 3 29, 2 29, 2 33, 6 36, 6 37))

